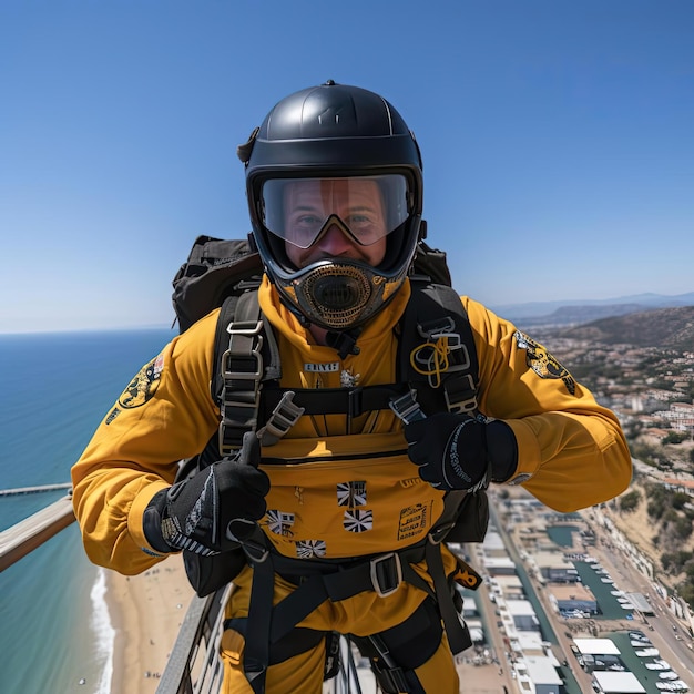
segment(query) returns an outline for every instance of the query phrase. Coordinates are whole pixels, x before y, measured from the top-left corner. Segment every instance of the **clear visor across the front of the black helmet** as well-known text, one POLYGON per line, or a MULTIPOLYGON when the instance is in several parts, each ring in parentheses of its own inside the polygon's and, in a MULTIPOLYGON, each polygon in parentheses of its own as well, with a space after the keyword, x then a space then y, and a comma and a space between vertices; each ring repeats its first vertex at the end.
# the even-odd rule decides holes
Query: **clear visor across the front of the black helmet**
POLYGON ((407 220, 409 197, 407 178, 400 174, 272 178, 261 192, 263 224, 299 248, 315 244, 333 224, 370 246, 407 220))

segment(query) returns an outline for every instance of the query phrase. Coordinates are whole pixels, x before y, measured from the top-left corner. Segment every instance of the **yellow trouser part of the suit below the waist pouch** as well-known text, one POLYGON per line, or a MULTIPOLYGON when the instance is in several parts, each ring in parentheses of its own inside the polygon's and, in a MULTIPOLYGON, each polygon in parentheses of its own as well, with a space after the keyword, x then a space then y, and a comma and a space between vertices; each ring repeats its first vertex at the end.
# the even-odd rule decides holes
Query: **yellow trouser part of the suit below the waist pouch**
MULTIPOLYGON (((248 596, 253 571, 244 570, 234 582, 234 591, 226 608, 227 618, 242 618, 248 613, 248 596)), ((294 590, 276 576, 273 603, 276 604, 294 590)), ((338 631, 366 636, 384 632, 404 622, 422 602, 421 591, 401 584, 387 598, 365 592, 339 602, 326 601, 297 626, 319 631, 338 631)), ((222 637, 221 657, 224 664, 223 694, 253 694, 243 671, 244 639, 234 630, 222 637)), ((305 653, 272 665, 266 675, 267 694, 320 694, 325 647, 323 642, 305 653)), ((407 667, 407 663, 402 664, 407 667)), ((458 673, 443 634, 436 653, 415 670, 426 692, 458 694, 458 673)))

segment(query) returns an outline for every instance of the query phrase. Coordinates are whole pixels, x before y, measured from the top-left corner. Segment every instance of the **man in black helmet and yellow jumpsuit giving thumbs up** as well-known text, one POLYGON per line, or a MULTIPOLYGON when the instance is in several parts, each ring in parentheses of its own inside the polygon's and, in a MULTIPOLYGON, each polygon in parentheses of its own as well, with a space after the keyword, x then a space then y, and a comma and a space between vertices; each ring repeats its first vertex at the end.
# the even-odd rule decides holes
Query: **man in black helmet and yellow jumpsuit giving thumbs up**
POLYGON ((235 455, 172 487, 172 461, 205 448, 220 425, 213 312, 145 367, 74 466, 86 551, 134 574, 180 549, 243 548, 221 647, 225 692, 320 692, 335 632, 355 639, 386 692, 458 692, 451 650, 469 642, 451 616, 466 568, 440 542, 456 523, 451 499, 492 481, 560 511, 605 501, 631 479, 623 433, 547 350, 467 297, 455 295, 443 327, 429 299, 432 315, 407 328, 422 294, 409 275, 425 235, 421 160, 384 99, 331 81, 303 90, 239 156, 282 389, 326 404, 348 390, 351 404, 409 380, 404 371, 419 386, 406 407, 395 397, 326 405, 282 438, 261 427, 262 447, 242 431, 235 455), (462 353, 479 361, 471 398, 451 378, 462 353), (423 404, 427 392, 438 405, 423 404))

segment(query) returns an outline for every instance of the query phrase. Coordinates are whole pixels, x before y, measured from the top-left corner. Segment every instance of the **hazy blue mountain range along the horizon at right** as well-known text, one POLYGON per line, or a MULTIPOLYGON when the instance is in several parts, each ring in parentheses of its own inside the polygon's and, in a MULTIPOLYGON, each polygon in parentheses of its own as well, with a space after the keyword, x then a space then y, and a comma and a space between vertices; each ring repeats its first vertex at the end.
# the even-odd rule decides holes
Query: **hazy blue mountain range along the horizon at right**
POLYGON ((563 302, 531 302, 490 307, 519 327, 543 325, 576 325, 609 316, 623 316, 652 308, 694 306, 694 292, 666 296, 663 294, 636 294, 611 299, 563 302))

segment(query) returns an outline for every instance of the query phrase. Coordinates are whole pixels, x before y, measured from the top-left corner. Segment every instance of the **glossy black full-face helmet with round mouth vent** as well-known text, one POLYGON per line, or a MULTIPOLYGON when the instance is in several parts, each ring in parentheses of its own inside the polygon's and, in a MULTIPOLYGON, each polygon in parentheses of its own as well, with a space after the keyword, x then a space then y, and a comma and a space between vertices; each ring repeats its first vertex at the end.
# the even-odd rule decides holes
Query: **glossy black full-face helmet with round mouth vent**
MULTIPOLYGON (((246 165, 253 236, 282 300, 305 325, 329 330, 359 326, 379 312, 401 286, 420 239, 421 156, 400 114, 374 92, 330 80, 277 103, 238 156, 246 165), (289 261, 285 245, 296 232, 288 231, 285 201, 298 182, 316 190, 377 186, 385 218, 379 237, 387 238, 377 267, 345 258, 306 267, 289 261)), ((375 243, 327 205, 320 214, 303 236, 305 245, 297 245, 310 246, 329 224, 361 245, 375 243)))

